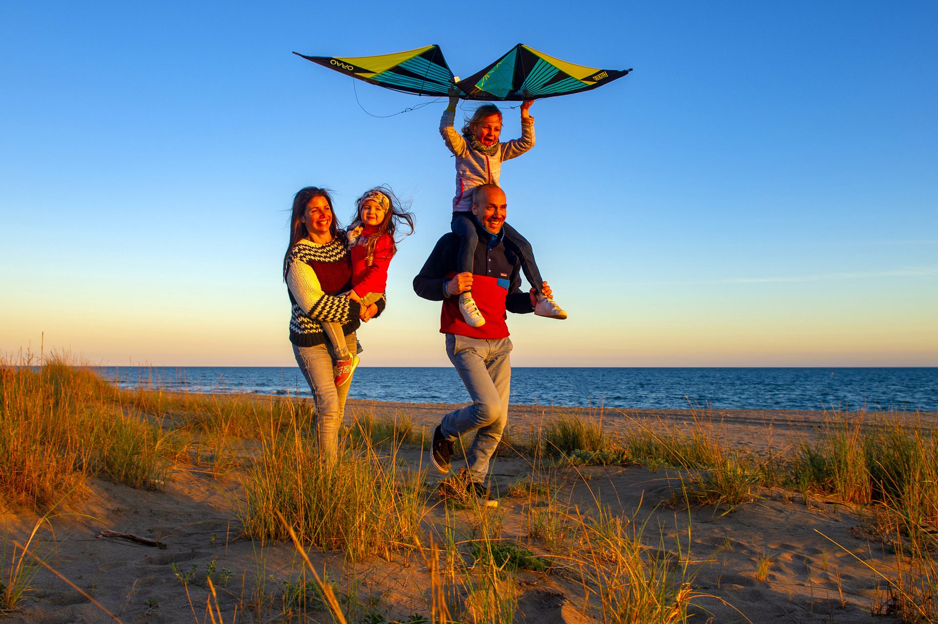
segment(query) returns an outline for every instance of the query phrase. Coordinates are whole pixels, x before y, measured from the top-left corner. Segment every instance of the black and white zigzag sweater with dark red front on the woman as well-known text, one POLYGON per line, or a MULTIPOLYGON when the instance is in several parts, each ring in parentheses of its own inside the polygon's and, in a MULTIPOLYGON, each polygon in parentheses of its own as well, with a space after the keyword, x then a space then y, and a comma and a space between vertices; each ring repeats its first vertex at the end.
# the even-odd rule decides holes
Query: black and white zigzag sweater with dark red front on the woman
MULTIPOLYGON (((359 305, 336 297, 352 288, 352 261, 339 236, 325 244, 302 238, 287 258, 287 288, 293 304, 290 342, 314 346, 326 342, 320 321, 340 323, 348 335, 360 325, 359 305)), ((385 301, 376 302, 378 314, 385 301)))

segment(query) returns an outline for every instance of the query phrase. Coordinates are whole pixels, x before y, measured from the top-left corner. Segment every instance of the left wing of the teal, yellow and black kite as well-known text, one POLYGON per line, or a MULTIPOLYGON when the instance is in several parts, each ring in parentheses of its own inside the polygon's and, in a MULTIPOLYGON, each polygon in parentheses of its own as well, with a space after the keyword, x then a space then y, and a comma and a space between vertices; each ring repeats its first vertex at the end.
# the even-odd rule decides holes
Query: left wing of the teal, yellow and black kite
POLYGON ((453 84, 453 72, 438 45, 379 56, 340 58, 295 54, 366 83, 418 96, 446 96, 453 84))

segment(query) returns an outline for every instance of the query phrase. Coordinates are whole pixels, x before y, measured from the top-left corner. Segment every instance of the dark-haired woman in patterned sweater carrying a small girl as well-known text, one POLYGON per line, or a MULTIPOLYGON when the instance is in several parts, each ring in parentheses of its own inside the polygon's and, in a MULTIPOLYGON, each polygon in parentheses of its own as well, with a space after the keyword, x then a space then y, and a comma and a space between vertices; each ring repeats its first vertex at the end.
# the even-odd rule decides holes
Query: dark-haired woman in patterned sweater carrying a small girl
POLYGON ((300 189, 290 214, 283 280, 293 303, 290 342, 316 404, 319 453, 329 463, 335 461, 339 449, 339 426, 350 384, 336 388, 332 369, 335 354, 329 352, 321 322, 339 323, 349 351, 355 353, 355 330, 360 321, 368 321, 385 306, 384 299, 362 306, 337 297, 352 287, 352 262, 346 244, 345 236, 339 236, 329 193, 316 187, 300 189))

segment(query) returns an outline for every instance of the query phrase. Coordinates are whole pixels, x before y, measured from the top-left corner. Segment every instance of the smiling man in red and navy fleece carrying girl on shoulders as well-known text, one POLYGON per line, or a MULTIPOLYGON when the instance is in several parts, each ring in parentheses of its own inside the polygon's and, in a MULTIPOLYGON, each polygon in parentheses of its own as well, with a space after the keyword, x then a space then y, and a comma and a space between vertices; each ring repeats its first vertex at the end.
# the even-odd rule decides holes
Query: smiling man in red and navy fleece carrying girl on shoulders
MULTIPOLYGON (((461 434, 476 431, 466 452, 466 487, 484 496, 483 485, 489 460, 502 439, 508 418, 508 388, 511 382, 511 341, 508 339, 506 311, 534 312, 536 291, 519 288, 521 261, 505 248, 505 192, 494 184, 483 184, 473 193, 478 244, 471 273, 456 273, 460 238, 447 233, 436 243, 427 262, 414 278, 414 291, 431 301, 443 301, 440 333, 446 334, 446 355, 456 367, 473 403, 446 414, 433 432, 431 457, 441 473, 449 472, 453 442, 461 434), (481 327, 469 326, 459 309, 460 293, 472 290, 479 312, 485 318, 481 327)), ((543 283, 542 292, 551 297, 543 283)), ((494 501, 490 502, 495 505, 494 501)))

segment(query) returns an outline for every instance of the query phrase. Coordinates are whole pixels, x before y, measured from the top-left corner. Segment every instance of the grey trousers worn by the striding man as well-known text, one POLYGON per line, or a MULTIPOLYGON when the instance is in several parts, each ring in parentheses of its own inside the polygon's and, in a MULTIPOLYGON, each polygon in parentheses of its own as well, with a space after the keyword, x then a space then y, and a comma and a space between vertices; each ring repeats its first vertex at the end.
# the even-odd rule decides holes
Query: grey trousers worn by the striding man
POLYGON ((472 404, 449 412, 440 431, 449 440, 476 432, 466 451, 469 478, 481 483, 489 472, 489 460, 502 439, 508 422, 511 386, 511 341, 483 340, 446 334, 446 355, 469 390, 472 404))

